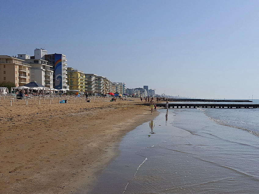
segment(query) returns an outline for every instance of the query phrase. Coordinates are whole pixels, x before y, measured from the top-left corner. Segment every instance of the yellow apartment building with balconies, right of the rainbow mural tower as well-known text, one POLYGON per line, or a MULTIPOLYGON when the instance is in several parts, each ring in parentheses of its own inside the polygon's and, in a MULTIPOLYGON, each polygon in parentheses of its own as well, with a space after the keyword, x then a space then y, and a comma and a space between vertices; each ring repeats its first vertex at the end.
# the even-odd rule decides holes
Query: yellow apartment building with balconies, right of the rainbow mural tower
POLYGON ((67 85, 71 92, 85 92, 86 78, 83 71, 67 67, 67 85))

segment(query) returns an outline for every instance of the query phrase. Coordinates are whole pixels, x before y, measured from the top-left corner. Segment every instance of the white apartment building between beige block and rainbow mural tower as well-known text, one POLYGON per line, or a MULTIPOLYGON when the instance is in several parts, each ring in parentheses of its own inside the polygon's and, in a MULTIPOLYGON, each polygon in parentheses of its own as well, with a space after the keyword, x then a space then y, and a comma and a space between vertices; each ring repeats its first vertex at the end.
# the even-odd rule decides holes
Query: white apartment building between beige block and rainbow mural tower
POLYGON ((43 60, 42 58, 44 55, 39 55, 38 50, 39 49, 34 50, 34 56, 30 57, 26 54, 19 54, 18 58, 23 59, 25 63, 30 64, 31 81, 36 81, 37 83, 42 84, 47 88, 53 88, 52 64, 46 60, 43 60))

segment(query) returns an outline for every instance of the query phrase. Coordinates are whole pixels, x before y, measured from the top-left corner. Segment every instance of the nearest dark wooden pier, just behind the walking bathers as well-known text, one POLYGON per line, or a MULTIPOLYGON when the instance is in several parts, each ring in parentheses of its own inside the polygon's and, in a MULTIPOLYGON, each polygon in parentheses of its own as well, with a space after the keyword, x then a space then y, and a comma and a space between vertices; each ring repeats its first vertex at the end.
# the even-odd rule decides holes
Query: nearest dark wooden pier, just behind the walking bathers
MULTIPOLYGON (((149 103, 144 103, 149 106, 149 103)), ((156 103, 157 107, 166 107, 166 103, 156 103)), ((259 104, 192 104, 168 103, 168 108, 259 108, 259 104)))

